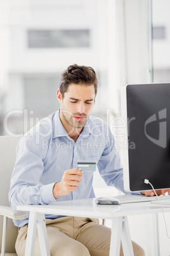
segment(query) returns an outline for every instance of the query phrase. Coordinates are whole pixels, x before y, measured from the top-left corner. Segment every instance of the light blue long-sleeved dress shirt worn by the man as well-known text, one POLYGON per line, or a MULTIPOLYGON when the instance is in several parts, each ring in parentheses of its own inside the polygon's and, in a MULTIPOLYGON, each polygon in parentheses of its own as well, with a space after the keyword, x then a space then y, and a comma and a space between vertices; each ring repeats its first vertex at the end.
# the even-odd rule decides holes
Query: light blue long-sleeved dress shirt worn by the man
MULTIPOLYGON (((84 172, 76 191, 55 199, 53 186, 62 180, 64 171, 77 167, 77 160, 96 160, 98 171, 108 186, 124 192, 121 160, 114 136, 100 118, 90 116, 74 141, 60 121, 59 111, 30 129, 16 148, 16 164, 11 176, 9 200, 16 210, 20 204, 49 204, 54 201, 95 197, 93 172, 84 172)), ((59 218, 46 215, 46 218, 59 218)), ((22 227, 29 218, 14 220, 22 227)))

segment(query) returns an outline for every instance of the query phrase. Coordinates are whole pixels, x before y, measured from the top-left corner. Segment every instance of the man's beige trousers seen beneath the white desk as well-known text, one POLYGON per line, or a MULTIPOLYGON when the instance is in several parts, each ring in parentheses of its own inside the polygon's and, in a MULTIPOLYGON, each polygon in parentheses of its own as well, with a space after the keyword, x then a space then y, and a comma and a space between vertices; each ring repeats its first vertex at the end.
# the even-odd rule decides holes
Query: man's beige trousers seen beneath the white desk
MULTIPOLYGON (((111 230, 99 225, 94 218, 62 217, 46 220, 50 255, 52 256, 108 256, 111 230)), ((20 227, 16 239, 16 253, 23 256, 28 225, 20 227)), ((143 249, 133 242, 135 256, 143 256, 143 249)), ((34 255, 41 255, 38 236, 34 255)), ((122 246, 121 246, 121 253, 122 246)))

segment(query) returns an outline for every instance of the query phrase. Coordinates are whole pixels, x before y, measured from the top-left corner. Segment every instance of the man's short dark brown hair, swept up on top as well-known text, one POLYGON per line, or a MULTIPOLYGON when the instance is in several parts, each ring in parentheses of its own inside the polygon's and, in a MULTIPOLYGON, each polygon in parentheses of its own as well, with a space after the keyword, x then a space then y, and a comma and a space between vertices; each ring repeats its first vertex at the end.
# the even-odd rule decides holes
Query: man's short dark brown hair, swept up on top
POLYGON ((88 66, 79 66, 77 64, 69 66, 61 75, 60 92, 62 97, 67 92, 69 85, 94 85, 95 95, 98 89, 98 80, 95 70, 88 66))

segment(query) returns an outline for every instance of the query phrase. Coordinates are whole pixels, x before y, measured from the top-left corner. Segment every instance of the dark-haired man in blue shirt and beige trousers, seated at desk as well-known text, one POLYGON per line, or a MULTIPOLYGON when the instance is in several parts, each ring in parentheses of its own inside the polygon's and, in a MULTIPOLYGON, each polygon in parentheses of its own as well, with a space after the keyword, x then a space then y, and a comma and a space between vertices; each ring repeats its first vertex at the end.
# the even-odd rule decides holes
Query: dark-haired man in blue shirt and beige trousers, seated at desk
MULTIPOLYGON (((12 208, 95 197, 93 173, 77 169, 77 160, 96 160, 107 185, 124 192, 114 137, 105 122, 90 116, 97 84, 93 68, 72 65, 63 72, 57 91, 60 110, 39 122, 18 144, 9 192, 12 208)), ((19 227, 19 256, 25 252, 28 221, 14 221, 19 227)), ((96 219, 46 215, 46 226, 51 255, 109 255, 110 229, 96 219)), ((133 249, 134 255, 145 255, 134 242, 133 249)), ((40 254, 36 239, 35 255, 40 254)))

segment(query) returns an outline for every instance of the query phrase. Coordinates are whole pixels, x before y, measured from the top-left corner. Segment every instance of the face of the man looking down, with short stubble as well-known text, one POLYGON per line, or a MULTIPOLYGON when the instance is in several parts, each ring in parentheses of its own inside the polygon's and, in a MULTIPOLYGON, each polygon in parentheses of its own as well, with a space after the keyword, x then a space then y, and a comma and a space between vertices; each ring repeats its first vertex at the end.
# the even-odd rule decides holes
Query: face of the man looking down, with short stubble
POLYGON ((82 129, 95 103, 94 85, 70 84, 64 97, 57 92, 60 102, 60 119, 66 130, 82 129))

